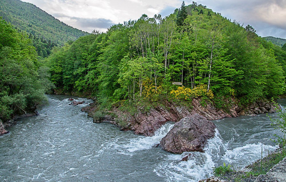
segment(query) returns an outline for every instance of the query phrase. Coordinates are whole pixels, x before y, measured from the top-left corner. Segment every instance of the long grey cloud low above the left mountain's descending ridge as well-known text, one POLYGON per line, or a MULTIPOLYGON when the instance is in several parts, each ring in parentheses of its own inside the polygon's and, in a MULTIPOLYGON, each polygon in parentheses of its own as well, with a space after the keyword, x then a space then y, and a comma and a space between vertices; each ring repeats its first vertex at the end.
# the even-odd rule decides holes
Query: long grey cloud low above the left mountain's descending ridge
POLYGON ((54 13, 54 16, 74 20, 81 28, 109 28, 114 24, 110 19, 105 18, 70 17, 63 13, 54 13))

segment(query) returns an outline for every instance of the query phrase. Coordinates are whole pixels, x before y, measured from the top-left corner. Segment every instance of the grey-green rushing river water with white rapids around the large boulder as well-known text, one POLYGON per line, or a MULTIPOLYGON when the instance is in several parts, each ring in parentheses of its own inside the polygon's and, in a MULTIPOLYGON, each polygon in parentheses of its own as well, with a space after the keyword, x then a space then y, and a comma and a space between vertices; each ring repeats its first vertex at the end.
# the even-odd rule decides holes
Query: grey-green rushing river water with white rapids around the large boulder
MULTIPOLYGON (((0 181, 198 181, 212 167, 231 163, 237 168, 276 147, 278 132, 266 115, 214 121, 216 136, 205 153, 182 155, 154 147, 173 127, 168 122, 154 137, 123 132, 109 123, 92 123, 68 96, 48 95, 49 105, 37 117, 21 119, 0 136, 0 181)), ((75 97, 74 97, 75 98, 75 97)), ((85 100, 91 102, 91 100, 85 100)), ((279 100, 282 106, 285 100, 279 100)))

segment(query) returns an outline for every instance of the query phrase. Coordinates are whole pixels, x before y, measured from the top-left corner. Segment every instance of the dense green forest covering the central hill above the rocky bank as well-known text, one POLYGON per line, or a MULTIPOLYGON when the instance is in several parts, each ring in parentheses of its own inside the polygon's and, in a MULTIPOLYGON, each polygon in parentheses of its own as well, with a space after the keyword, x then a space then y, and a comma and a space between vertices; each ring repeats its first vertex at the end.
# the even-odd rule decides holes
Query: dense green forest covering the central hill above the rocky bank
POLYGON ((56 47, 45 64, 57 88, 101 103, 229 95, 246 104, 285 92, 285 60, 250 25, 183 3, 168 17, 142 15, 56 47))

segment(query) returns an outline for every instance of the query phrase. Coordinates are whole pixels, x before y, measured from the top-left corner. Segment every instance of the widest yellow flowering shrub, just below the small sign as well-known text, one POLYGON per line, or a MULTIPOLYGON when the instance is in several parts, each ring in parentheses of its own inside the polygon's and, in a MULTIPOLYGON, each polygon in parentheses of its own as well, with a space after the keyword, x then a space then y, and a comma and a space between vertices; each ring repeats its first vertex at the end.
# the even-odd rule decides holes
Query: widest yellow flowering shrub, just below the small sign
POLYGON ((212 90, 209 90, 207 92, 207 85, 198 85, 194 89, 186 88, 184 86, 178 87, 176 90, 172 90, 170 92, 170 95, 174 99, 183 99, 183 100, 189 100, 189 99, 193 99, 196 97, 202 97, 202 96, 206 96, 210 99, 214 97, 212 90))

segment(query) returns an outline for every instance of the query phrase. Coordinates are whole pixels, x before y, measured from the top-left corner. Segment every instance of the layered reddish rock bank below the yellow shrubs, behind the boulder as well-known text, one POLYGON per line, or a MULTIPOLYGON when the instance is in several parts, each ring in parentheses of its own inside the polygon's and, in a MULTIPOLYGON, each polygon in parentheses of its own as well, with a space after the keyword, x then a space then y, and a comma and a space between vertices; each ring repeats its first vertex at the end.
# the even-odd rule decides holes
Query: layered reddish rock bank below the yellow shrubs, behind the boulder
MULTIPOLYGON (((263 113, 274 113, 275 107, 271 101, 266 99, 251 103, 247 106, 241 106, 237 98, 229 98, 225 100, 227 109, 218 109, 213 101, 205 101, 201 98, 193 99, 188 106, 180 105, 170 101, 160 101, 150 109, 144 108, 142 105, 136 106, 136 112, 122 111, 120 107, 114 107, 111 111, 104 113, 101 118, 94 118, 96 122, 104 121, 108 118, 112 124, 116 121, 122 121, 125 125, 121 125, 122 129, 133 130, 137 135, 154 136, 154 133, 167 121, 178 122, 180 119, 199 114, 208 120, 223 119, 224 117, 238 117, 240 115, 256 115, 263 113), (116 116, 116 117, 114 117, 116 116)), ((89 105, 82 109, 93 116, 98 111, 96 104, 89 105)))

